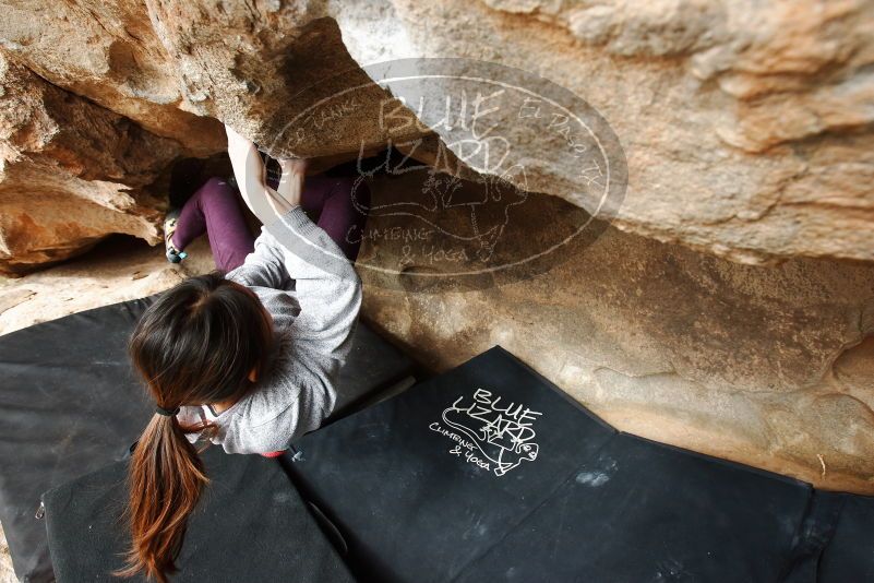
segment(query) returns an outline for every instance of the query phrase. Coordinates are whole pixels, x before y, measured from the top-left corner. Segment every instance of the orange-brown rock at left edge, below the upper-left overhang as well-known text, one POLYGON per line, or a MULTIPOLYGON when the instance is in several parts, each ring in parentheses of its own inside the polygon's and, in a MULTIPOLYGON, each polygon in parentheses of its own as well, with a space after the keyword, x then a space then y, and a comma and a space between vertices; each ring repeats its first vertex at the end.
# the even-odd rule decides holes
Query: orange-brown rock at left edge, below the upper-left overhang
POLYGON ((0 271, 59 261, 109 233, 155 243, 148 190, 179 145, 0 56, 0 271))

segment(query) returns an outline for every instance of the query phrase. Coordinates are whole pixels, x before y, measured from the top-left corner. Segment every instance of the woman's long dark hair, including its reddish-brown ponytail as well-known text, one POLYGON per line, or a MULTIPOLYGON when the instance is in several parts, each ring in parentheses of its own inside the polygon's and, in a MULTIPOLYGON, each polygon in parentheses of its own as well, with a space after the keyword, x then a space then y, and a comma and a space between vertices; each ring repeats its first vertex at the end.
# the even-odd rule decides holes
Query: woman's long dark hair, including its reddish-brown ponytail
MULTIPOLYGON (((164 409, 238 400, 251 389, 272 346, 272 323, 258 296, 220 273, 190 277, 146 309, 129 353, 155 404, 164 409)), ((155 414, 134 449, 129 468, 127 516, 132 534, 128 566, 166 583, 189 514, 208 481, 185 437, 208 427, 181 425, 155 414)))

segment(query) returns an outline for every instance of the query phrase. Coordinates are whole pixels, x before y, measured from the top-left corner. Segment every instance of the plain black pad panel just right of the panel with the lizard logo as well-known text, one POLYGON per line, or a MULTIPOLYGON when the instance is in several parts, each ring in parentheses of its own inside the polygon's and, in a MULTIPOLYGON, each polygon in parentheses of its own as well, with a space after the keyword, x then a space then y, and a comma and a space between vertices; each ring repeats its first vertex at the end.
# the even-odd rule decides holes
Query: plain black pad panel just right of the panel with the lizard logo
POLYGON ((455 581, 775 582, 809 495, 619 435, 455 581))

